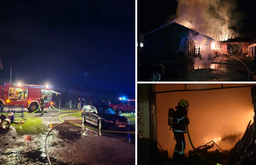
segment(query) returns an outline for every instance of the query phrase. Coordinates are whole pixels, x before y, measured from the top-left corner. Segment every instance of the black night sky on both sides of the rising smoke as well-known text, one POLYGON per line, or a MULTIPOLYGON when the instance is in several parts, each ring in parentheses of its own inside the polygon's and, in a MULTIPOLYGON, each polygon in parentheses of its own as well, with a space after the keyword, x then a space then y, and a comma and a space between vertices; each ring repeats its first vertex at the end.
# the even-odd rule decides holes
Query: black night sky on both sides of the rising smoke
MULTIPOLYGON (((166 20, 169 19, 170 15, 176 14, 178 1, 190 1, 190 0, 138 0, 138 32, 148 33, 156 28, 161 27, 161 25, 166 24, 166 20)), ((194 0, 191 0, 192 2, 194 0)), ((195 2, 202 2, 204 0, 197 0, 195 2)), ((255 34, 255 6, 252 5, 252 1, 249 0, 213 0, 219 2, 221 6, 233 5, 230 17, 239 15, 240 17, 235 17, 232 19, 236 22, 236 27, 229 27, 234 29, 239 33, 251 33, 255 34), (239 27, 239 28, 237 28, 239 27)), ((211 1, 208 1, 209 3, 211 1)), ((189 9, 188 9, 189 10, 189 9)), ((201 10, 198 6, 198 11, 201 10)), ((195 21, 197 17, 195 17, 195 21)), ((218 19, 216 19, 218 20, 218 19)), ((207 22, 208 20, 205 20, 207 22)))

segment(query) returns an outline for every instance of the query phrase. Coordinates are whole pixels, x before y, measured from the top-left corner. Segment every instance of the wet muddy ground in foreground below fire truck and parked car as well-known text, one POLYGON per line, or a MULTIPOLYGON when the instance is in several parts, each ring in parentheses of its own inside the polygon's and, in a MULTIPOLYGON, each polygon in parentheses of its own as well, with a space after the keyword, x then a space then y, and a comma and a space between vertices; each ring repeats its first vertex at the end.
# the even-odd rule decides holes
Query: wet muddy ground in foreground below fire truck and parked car
MULTIPOLYGON (((46 109, 41 117, 48 130, 61 123, 57 116, 64 114, 46 109)), ((86 127, 77 117, 63 116, 64 121, 86 127)), ((21 125, 22 127, 22 125, 21 125)), ((45 152, 45 138, 40 135, 17 135, 14 126, 0 130, 0 164, 49 164, 45 152)), ((135 164, 135 133, 113 133, 91 130, 73 124, 62 124, 47 138, 47 150, 52 164, 135 164)))

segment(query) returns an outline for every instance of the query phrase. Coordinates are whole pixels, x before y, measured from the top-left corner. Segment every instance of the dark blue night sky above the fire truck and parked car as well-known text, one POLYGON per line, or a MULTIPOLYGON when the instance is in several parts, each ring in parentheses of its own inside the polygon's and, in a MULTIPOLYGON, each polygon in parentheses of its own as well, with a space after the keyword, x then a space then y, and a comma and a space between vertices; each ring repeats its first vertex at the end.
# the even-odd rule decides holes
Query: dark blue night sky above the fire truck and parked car
POLYGON ((1 83, 12 61, 12 83, 135 96, 135 1, 1 1, 0 22, 1 83))

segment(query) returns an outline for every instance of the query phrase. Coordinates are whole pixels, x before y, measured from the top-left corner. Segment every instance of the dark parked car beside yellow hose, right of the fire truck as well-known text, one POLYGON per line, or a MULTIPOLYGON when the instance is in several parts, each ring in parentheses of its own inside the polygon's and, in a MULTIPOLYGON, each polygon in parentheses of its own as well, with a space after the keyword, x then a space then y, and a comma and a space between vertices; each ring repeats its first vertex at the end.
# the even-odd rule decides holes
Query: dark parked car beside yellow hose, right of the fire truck
POLYGON ((129 129, 129 120, 114 111, 113 108, 100 105, 85 105, 81 110, 82 122, 95 125, 101 129, 124 130, 129 129))

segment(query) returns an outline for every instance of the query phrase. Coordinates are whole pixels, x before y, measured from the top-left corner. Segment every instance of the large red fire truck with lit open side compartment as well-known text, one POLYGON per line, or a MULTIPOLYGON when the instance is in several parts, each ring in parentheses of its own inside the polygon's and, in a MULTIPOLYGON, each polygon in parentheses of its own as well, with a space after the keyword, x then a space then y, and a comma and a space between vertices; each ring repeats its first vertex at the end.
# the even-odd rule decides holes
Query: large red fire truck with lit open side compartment
POLYGON ((45 108, 52 104, 52 94, 61 94, 52 90, 53 86, 4 83, 0 85, 1 112, 7 107, 22 107, 33 112, 40 106, 41 96, 45 98, 45 108))

